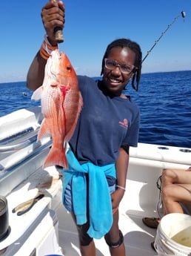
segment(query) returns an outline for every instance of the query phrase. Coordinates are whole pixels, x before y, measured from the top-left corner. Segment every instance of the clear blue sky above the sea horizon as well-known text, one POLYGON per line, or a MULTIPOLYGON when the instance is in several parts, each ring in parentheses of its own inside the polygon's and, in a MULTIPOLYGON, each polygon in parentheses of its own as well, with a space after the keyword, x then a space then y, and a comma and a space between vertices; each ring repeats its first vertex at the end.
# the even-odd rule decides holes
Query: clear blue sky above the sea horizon
MULTIPOLYGON (((45 0, 1 1, 0 82, 25 81, 44 37, 45 0)), ((143 63, 142 73, 191 70, 190 0, 64 1, 64 50, 76 73, 99 76, 107 45, 126 37, 141 45, 143 57, 172 23, 143 63)))

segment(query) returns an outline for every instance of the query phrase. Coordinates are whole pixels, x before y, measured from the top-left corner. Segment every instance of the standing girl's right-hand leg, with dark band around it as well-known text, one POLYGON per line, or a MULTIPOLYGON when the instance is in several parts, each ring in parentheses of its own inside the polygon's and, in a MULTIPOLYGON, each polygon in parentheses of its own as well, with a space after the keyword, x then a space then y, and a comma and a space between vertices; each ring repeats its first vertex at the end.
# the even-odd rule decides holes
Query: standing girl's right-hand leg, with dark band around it
POLYGON ((113 214, 113 226, 105 236, 111 256, 125 256, 124 237, 118 229, 118 210, 113 214))

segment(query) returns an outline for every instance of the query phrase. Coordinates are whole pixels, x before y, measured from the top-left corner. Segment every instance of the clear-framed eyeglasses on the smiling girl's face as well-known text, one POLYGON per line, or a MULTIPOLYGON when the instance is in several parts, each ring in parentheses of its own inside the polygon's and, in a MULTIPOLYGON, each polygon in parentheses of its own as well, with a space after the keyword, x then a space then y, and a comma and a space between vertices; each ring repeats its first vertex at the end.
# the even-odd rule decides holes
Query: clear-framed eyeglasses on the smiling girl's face
POLYGON ((130 65, 130 64, 119 64, 116 62, 114 59, 104 59, 105 61, 105 68, 114 70, 115 68, 119 68, 121 70, 121 73, 127 73, 128 75, 133 71, 135 66, 130 65))

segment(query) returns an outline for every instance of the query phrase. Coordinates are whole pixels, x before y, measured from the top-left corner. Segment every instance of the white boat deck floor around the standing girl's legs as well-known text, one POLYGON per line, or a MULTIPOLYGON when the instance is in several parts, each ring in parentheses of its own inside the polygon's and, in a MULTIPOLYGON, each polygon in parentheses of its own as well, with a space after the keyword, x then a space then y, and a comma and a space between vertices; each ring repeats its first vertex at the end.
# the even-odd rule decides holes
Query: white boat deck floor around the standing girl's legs
MULTIPOLYGON (((79 256, 76 226, 73 224, 70 214, 65 211, 63 206, 59 206, 56 212, 58 216, 59 245, 62 248, 64 256, 79 256)), ((124 244, 128 256, 157 255, 150 246, 150 243, 155 239, 156 231, 145 226, 142 223, 141 217, 121 212, 119 226, 124 234, 124 244)), ((95 240, 95 243, 97 256, 110 255, 104 238, 95 240)))

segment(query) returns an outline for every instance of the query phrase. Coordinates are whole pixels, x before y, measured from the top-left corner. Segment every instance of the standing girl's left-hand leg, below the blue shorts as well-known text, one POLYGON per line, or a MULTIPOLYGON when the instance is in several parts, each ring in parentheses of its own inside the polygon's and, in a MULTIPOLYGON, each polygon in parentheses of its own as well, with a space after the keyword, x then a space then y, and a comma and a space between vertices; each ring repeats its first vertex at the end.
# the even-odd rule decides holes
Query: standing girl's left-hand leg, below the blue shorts
MULTIPOLYGON (((74 222, 76 223, 76 217, 72 213, 72 217, 74 222)), ((96 256, 96 246, 93 241, 93 238, 87 234, 87 230, 90 227, 90 224, 87 222, 84 225, 77 225, 78 231, 78 239, 79 239, 79 246, 81 256, 96 256)))

